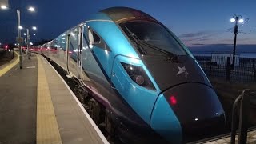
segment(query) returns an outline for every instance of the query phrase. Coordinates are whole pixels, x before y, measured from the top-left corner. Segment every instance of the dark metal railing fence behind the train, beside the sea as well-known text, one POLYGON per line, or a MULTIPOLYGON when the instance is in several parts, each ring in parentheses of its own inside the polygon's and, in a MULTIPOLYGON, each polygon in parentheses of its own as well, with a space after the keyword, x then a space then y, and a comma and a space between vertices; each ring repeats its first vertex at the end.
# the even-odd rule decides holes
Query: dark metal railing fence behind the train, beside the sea
POLYGON ((208 77, 256 82, 256 55, 236 55, 234 67, 230 66, 232 56, 232 54, 194 54, 208 77))

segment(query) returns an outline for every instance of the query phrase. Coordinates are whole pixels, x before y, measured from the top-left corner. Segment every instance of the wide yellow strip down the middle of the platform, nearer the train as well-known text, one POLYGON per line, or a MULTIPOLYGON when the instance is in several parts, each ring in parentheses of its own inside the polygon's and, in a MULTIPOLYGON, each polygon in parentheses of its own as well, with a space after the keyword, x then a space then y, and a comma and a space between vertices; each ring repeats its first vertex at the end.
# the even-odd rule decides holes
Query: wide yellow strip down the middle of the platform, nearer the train
POLYGON ((42 60, 38 58, 37 144, 62 144, 42 60))

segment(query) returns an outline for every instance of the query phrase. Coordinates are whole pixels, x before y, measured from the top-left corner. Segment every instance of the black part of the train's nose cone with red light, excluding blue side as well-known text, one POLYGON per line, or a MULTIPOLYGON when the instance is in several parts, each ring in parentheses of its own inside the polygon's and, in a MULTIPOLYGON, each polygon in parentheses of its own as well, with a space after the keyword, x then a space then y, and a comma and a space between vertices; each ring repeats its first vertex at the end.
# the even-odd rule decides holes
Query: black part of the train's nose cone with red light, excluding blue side
POLYGON ((210 137, 224 128, 224 110, 210 86, 190 82, 174 86, 163 95, 180 122, 183 141, 210 137))

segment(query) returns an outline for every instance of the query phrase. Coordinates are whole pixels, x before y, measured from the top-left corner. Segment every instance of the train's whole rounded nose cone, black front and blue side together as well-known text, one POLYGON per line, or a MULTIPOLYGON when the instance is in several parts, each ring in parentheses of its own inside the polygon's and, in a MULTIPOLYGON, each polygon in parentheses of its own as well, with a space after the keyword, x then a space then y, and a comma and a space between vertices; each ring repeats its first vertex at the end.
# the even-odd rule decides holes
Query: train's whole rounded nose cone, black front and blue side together
POLYGON ((225 114, 210 86, 188 82, 159 95, 150 126, 171 143, 210 137, 225 126, 225 114))

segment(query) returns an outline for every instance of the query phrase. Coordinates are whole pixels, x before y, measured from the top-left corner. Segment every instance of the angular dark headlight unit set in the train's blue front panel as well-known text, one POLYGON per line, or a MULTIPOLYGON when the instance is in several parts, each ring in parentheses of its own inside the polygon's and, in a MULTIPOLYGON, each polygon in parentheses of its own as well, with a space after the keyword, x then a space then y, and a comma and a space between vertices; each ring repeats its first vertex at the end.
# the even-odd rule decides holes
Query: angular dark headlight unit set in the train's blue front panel
POLYGON ((124 62, 121 62, 121 64, 126 70, 126 73, 135 83, 139 86, 145 87, 146 89, 155 90, 153 83, 150 81, 150 78, 147 76, 142 66, 134 66, 124 62))

